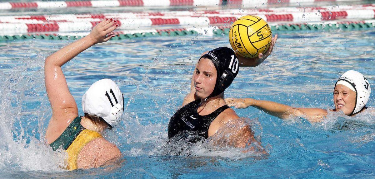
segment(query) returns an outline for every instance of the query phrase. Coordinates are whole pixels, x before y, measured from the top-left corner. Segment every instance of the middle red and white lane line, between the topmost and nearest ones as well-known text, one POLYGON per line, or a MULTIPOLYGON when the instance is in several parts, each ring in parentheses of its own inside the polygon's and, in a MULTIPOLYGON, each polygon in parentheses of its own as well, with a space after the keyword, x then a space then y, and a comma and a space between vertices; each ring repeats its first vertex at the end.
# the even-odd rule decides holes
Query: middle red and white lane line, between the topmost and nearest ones
MULTIPOLYGON (((0 22, 75 22, 75 21, 98 21, 105 18, 120 19, 138 19, 138 18, 177 18, 183 16, 200 17, 200 16, 218 16, 226 17, 228 14, 233 16, 242 15, 289 15, 300 13, 321 13, 321 16, 343 16, 340 12, 347 11, 348 14, 358 13, 372 15, 371 10, 375 10, 375 4, 353 5, 353 6, 321 6, 321 7, 286 7, 286 8, 269 8, 269 9, 225 9, 225 10, 206 10, 206 11, 161 11, 161 12, 130 12, 130 13, 103 13, 103 14, 61 14, 61 15, 36 15, 36 16, 0 16, 0 22), (338 13, 336 13, 338 12, 338 13)), ((351 16, 351 15, 349 15, 351 16)), ((271 17, 272 19, 282 19, 271 17)), ((286 18, 288 19, 288 18, 286 18)))

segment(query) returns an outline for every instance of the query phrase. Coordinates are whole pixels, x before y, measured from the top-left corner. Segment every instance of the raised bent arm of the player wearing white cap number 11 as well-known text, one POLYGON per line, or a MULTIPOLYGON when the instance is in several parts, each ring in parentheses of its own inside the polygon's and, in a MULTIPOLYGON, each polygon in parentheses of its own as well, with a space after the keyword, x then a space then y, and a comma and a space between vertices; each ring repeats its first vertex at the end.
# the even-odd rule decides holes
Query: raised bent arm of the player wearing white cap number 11
POLYGON ((117 28, 115 21, 107 19, 100 22, 91 33, 68 46, 63 47, 45 59, 44 75, 45 86, 49 102, 52 108, 52 118, 46 133, 48 142, 54 141, 53 133, 60 133, 69 125, 69 120, 78 116, 77 104, 71 95, 62 65, 70 61, 79 53, 94 44, 108 41, 113 35, 108 35, 117 28))

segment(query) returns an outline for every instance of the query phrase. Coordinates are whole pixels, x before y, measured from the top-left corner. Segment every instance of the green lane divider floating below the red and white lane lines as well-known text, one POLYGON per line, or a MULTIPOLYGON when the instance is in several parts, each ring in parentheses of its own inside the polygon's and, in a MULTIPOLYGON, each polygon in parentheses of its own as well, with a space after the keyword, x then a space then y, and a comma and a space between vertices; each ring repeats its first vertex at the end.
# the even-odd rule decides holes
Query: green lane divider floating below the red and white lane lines
MULTIPOLYGON (((375 23, 351 23, 351 24, 291 24, 291 25, 272 25, 270 26, 272 31, 330 31, 330 30, 366 30, 369 28, 374 28, 375 23)), ((217 36, 227 35, 229 33, 229 28, 216 29, 213 34, 217 36)), ((141 37, 175 37, 175 36, 190 36, 198 34, 195 30, 182 30, 182 31, 162 31, 159 33, 135 33, 135 34, 118 34, 112 37, 111 40, 125 40, 132 38, 141 37)), ((77 40, 82 38, 81 36, 55 36, 55 35, 21 35, 21 36, 0 36, 1 41, 15 41, 15 40, 28 40, 28 39, 42 39, 42 40, 77 40)))

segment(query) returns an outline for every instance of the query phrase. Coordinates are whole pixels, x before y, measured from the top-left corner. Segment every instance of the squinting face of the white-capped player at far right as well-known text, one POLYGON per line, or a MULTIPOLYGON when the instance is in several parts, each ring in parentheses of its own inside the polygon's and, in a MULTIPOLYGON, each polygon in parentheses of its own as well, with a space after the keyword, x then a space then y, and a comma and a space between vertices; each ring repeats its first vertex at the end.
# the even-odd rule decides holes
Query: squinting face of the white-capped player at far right
POLYGON ((345 85, 338 84, 333 91, 333 102, 336 111, 343 111, 345 115, 350 115, 356 107, 356 92, 345 85))

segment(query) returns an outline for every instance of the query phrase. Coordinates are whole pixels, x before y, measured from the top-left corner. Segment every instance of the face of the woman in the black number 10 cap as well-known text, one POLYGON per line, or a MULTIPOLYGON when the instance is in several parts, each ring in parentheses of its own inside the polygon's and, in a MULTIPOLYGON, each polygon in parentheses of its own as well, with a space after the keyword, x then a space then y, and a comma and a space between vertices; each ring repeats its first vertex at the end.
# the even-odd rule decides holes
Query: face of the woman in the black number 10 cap
POLYGON ((195 68, 194 87, 195 94, 200 99, 207 98, 216 85, 216 68, 210 59, 201 58, 195 68))

